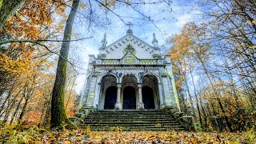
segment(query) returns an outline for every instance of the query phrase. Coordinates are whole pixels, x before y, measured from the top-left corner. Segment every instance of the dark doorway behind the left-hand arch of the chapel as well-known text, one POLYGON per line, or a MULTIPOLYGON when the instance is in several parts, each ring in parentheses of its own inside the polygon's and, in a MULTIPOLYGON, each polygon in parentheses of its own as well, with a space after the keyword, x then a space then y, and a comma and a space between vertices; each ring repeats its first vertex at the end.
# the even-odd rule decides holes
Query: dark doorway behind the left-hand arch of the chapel
POLYGON ((106 89, 104 109, 114 109, 117 101, 117 87, 110 86, 106 89))

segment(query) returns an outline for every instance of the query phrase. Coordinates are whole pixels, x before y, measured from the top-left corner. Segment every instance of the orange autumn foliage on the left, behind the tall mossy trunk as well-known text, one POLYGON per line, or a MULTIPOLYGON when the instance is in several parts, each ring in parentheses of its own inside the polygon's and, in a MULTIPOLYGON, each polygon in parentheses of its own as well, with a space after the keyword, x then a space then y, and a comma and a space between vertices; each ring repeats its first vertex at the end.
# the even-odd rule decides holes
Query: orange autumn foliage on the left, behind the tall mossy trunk
MULTIPOLYGON (((56 39, 63 30, 66 18, 64 1, 26 1, 2 30, 1 38, 18 42, 0 46, 0 115, 3 124, 14 124, 29 121, 37 124, 49 123, 50 94, 54 83, 56 61, 53 51, 58 42, 47 42, 56 39), (33 9, 31 9, 33 7, 33 9), (54 21, 54 18, 59 21, 54 21), (28 42, 28 41, 38 42, 28 42)), ((72 79, 72 78, 71 78, 72 79)), ((67 88, 70 90, 70 88, 67 88)), ((68 93, 68 106, 76 101, 74 90, 68 93)), ((72 116, 73 111, 68 111, 72 116)), ((44 125, 45 125, 44 124, 44 125)))

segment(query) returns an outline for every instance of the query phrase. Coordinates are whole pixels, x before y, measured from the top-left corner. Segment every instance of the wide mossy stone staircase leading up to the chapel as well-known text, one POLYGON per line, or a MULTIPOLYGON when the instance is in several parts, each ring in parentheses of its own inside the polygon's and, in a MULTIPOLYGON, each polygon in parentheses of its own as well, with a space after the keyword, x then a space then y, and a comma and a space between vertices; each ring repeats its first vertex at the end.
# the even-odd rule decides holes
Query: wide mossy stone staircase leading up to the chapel
POLYGON ((97 110, 80 124, 90 130, 184 130, 163 110, 97 110))

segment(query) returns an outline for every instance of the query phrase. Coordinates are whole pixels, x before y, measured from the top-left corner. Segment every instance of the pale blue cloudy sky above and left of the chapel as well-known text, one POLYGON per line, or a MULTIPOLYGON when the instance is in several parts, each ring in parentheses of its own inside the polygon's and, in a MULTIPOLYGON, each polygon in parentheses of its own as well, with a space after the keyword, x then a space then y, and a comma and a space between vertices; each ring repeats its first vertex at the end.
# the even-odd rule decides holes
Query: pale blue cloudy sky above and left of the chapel
MULTIPOLYGON (((133 34, 150 45, 152 45, 153 34, 156 34, 158 45, 162 46, 166 38, 177 34, 186 22, 198 21, 198 15, 201 13, 197 5, 194 5, 193 1, 185 0, 174 0, 170 2, 170 5, 167 3, 154 5, 142 4, 135 6, 134 8, 136 10, 130 6, 116 5, 115 9, 111 9, 114 13, 111 11, 106 12, 104 7, 99 8, 96 2, 92 3, 92 7, 95 13, 94 22, 96 24, 93 24, 93 26, 88 29, 88 22, 86 18, 82 16, 82 14, 86 14, 86 10, 80 10, 81 14, 77 14, 73 32, 79 34, 78 38, 87 38, 90 36, 93 38, 72 42, 70 46, 71 54, 78 57, 80 66, 85 70, 88 65, 88 54, 98 54, 98 48, 101 46, 104 34, 106 33, 108 46, 126 35, 128 26, 126 26, 125 23, 131 22, 133 24, 133 26, 131 26, 133 34), (122 16, 122 20, 115 14, 122 16)), ((82 70, 82 74, 80 74, 77 79, 76 91, 78 94, 82 90, 86 79, 85 70, 82 70)))

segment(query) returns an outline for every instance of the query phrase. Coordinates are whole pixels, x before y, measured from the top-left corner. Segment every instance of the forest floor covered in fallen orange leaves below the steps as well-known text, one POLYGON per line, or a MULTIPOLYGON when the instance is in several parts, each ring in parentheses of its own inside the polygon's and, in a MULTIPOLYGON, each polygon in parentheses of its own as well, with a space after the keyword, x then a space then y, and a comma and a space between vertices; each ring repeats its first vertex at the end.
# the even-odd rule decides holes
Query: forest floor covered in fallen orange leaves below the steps
POLYGON ((256 143, 253 130, 246 132, 186 131, 52 131, 33 127, 28 130, 1 130, 0 143, 256 143))

